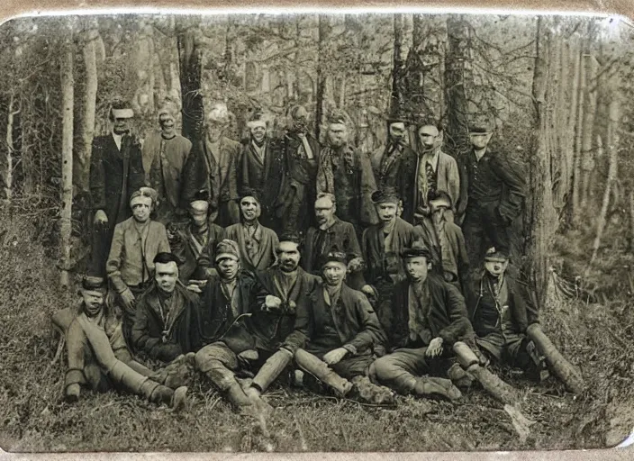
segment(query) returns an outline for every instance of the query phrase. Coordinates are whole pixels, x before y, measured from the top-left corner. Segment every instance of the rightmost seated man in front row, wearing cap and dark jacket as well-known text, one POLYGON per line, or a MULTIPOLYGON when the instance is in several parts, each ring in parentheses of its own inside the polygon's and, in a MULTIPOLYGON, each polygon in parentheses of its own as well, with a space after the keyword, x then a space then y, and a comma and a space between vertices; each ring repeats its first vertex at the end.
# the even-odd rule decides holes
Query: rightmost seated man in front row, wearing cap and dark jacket
POLYGON ((507 272, 508 255, 503 249, 488 249, 485 270, 467 290, 467 301, 475 342, 488 359, 522 368, 534 377, 544 370, 535 344, 527 337, 538 312, 520 283, 507 272))

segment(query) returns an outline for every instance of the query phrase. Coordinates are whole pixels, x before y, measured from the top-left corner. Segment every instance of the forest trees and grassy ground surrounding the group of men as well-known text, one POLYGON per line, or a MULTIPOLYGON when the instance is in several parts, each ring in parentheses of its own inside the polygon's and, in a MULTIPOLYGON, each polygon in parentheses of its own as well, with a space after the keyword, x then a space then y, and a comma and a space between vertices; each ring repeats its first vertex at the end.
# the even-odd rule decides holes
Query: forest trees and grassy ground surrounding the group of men
MULTIPOLYGON (((22 18, 0 28, 0 445, 5 449, 424 450, 605 447, 634 426, 634 182, 629 103, 632 28, 619 18, 466 14, 118 15, 22 18), (226 103, 231 135, 262 108, 271 135, 303 104, 312 129, 348 114, 364 153, 385 118, 440 119, 444 149, 468 149, 485 113, 494 149, 521 161, 531 194, 523 256, 544 329, 580 366, 588 392, 512 373, 531 418, 518 439, 482 392, 460 405, 403 399, 359 407, 282 389, 275 436, 243 427, 204 381, 190 411, 150 411, 108 393, 61 401, 49 319, 77 302, 90 238, 90 146, 110 130, 114 99, 132 101, 134 131, 158 129, 165 99, 195 139, 205 107, 226 103), (292 395, 289 397, 288 393, 292 395), (95 418, 95 416, 98 416, 95 418), (125 421, 123 425, 121 421, 125 421), (221 421, 222 422, 219 422, 221 421), (223 430, 218 431, 217 428, 223 430), (448 430, 452 429, 452 430, 448 430), (426 437, 421 437, 421 431, 426 437), (376 438, 381 433, 383 437, 376 438)), ((416 138, 410 129, 410 141, 416 138)))

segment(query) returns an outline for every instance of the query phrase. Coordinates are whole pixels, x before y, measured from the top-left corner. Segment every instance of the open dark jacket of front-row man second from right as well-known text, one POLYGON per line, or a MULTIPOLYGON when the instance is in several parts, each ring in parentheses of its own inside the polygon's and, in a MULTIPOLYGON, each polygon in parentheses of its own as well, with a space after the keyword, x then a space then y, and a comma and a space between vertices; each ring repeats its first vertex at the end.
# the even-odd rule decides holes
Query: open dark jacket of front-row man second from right
MULTIPOLYGON (((442 338, 448 346, 473 335, 469 323, 465 298, 453 285, 436 275, 427 276, 430 293, 430 309, 427 321, 433 338, 442 338)), ((403 279, 394 287, 392 308, 394 319, 387 337, 392 349, 409 346, 409 296, 410 281, 403 279)))

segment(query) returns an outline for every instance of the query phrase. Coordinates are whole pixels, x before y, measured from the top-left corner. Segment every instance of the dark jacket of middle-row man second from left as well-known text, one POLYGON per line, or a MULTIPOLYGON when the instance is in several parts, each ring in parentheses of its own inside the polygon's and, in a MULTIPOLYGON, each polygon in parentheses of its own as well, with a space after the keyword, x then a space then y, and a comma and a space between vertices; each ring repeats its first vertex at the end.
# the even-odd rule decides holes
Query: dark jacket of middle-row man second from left
POLYGON ((197 280, 206 278, 206 269, 213 267, 216 245, 224 239, 224 230, 218 224, 207 223, 207 243, 201 246, 192 236, 192 225, 178 229, 176 238, 170 241, 172 253, 184 263, 178 267, 180 279, 185 282, 192 277, 197 280), (201 277, 201 278, 199 278, 201 277))

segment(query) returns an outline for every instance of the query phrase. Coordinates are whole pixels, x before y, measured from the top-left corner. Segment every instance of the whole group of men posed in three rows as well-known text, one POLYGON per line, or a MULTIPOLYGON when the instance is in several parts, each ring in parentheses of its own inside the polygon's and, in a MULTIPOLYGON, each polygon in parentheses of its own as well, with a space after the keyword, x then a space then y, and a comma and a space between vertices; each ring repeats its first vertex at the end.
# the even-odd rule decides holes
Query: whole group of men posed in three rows
POLYGON ((387 386, 456 399, 473 380, 453 358, 458 342, 483 366, 543 368, 526 336, 537 312, 506 271, 525 183, 488 149, 486 122, 470 126, 473 149, 457 162, 429 122, 417 126, 420 152, 407 122, 390 119, 368 154, 342 113, 320 144, 302 106, 281 139, 254 113, 243 143, 226 136, 224 104, 193 141, 163 105, 142 146, 129 106, 110 115, 113 131, 93 143, 92 264, 67 328, 69 399, 111 385, 180 408, 192 370, 249 413, 269 410, 262 394, 284 376, 340 395, 389 400, 387 386))

